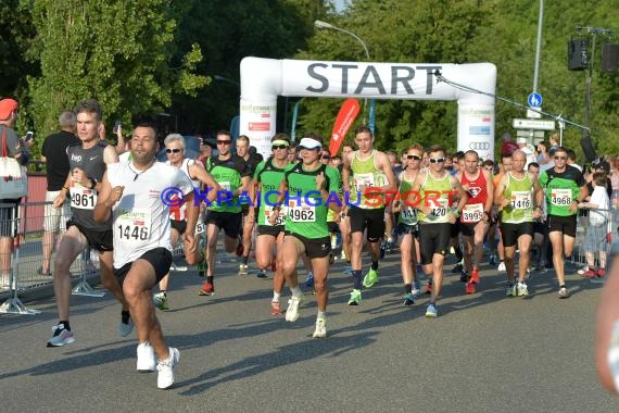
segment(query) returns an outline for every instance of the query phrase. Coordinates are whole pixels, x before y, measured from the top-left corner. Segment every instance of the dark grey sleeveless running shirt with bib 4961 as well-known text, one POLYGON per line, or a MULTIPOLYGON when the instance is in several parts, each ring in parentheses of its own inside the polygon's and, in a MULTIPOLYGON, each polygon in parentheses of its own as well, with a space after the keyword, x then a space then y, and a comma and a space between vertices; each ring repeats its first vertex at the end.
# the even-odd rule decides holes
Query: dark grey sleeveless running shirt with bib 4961
MULTIPOLYGON (((103 151, 106 146, 106 142, 98 142, 89 149, 84 149, 81 143, 66 148, 70 171, 79 167, 89 178, 101 182, 106 168, 103 161, 103 151)), ((97 204, 97 190, 86 188, 73 179, 68 189, 71 192, 72 220, 88 229, 109 230, 112 225, 111 218, 104 223, 97 223, 92 217, 92 211, 97 204)))

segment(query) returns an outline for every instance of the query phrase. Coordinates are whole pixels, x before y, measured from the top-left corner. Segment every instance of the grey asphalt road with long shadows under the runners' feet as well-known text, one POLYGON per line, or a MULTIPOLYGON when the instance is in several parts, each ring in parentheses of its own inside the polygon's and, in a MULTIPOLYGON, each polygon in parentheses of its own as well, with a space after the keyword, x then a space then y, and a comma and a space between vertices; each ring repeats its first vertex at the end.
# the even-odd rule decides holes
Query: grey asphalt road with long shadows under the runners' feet
POLYGON ((484 267, 480 291, 465 296, 450 273, 440 316, 427 320, 427 297, 402 305, 396 254, 357 308, 346 305, 342 268, 339 261, 331 268, 326 339, 312 338, 311 295, 300 320, 287 323, 269 313, 270 278, 238 276, 226 263, 216 295, 199 297, 195 273, 174 274, 172 309, 157 311, 180 350, 166 391, 156 373, 135 371, 136 336, 117 336, 119 305, 110 295, 74 297, 76 341, 63 348, 46 347, 53 299, 26 302, 41 313, 0 314, 2 411, 619 411, 593 366, 602 284, 569 275, 572 297, 558 300, 554 273, 533 274, 529 297, 506 298, 505 275, 484 267))

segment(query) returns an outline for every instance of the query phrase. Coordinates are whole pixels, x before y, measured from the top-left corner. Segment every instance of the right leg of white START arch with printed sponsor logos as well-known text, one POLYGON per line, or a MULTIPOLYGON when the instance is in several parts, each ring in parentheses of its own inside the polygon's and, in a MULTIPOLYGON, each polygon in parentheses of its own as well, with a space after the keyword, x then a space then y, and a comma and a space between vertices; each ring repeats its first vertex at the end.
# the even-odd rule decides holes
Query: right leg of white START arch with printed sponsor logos
POLYGON ((458 151, 470 150, 483 160, 494 159, 494 108, 459 104, 458 151))

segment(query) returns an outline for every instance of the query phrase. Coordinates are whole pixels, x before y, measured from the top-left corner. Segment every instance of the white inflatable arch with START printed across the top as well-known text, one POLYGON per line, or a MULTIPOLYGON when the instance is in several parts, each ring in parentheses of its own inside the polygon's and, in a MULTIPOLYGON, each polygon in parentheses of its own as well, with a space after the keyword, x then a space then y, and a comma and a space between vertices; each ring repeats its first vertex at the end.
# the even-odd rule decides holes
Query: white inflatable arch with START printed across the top
MULTIPOLYGON (((270 155, 278 96, 457 100, 457 149, 473 149, 480 158, 493 159, 495 87, 496 66, 492 63, 369 63, 244 58, 241 61, 240 133, 251 138, 252 146, 260 153, 270 155), (435 71, 450 82, 491 96, 437 82, 435 71)), ((333 122, 336 115, 333 113, 333 122)), ((377 136, 377 139, 381 138, 377 136)))

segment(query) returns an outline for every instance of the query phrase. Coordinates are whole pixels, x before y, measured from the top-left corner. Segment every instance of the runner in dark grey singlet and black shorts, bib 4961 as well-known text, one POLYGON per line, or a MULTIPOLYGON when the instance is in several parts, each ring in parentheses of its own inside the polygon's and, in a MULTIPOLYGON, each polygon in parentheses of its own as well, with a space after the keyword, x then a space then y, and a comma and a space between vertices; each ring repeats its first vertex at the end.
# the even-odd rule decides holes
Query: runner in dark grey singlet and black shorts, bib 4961
POLYGON ((123 304, 118 333, 129 335, 130 323, 128 304, 112 271, 112 221, 96 222, 92 211, 97 204, 98 190, 106 165, 118 162, 113 146, 99 139, 101 108, 96 100, 81 101, 76 110, 77 136, 80 145, 67 148, 70 173, 60 195, 53 201, 54 208, 62 208, 67 195, 71 199, 72 217, 67 224, 54 262, 54 291, 59 323, 53 327, 53 336, 48 347, 61 347, 75 341, 68 323, 72 279, 70 267, 86 246, 99 251, 101 284, 123 304))

